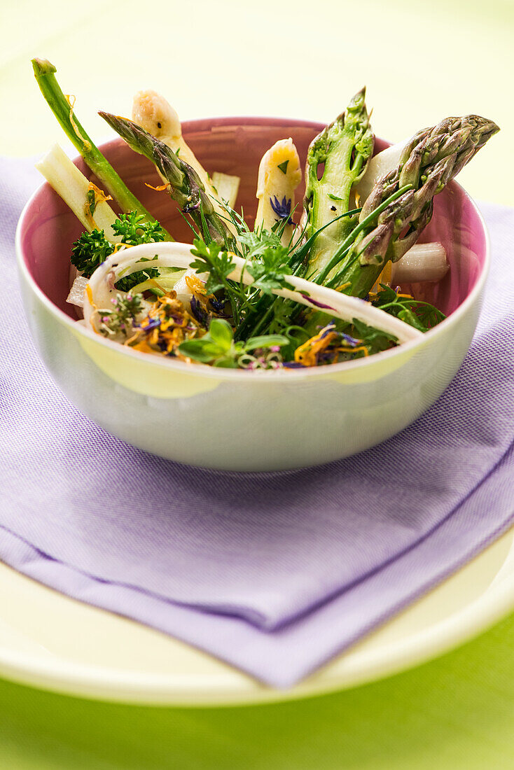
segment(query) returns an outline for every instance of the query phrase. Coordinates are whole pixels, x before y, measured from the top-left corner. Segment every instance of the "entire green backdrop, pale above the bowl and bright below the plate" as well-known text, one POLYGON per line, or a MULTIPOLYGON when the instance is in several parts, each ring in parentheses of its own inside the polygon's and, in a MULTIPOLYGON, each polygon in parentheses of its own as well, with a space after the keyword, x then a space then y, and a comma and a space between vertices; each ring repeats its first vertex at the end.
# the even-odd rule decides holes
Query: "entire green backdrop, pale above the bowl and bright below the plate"
MULTIPOLYGON (((364 83, 379 136, 445 115, 502 128, 460 180, 514 204, 514 6, 510 0, 323 4, 0 2, 0 152, 61 142, 29 60, 58 67, 95 139, 97 109, 128 114, 153 88, 182 119, 284 115, 328 121, 364 83)), ((0 768, 514 768, 514 616, 413 671, 283 705, 139 708, 0 681, 0 768)))

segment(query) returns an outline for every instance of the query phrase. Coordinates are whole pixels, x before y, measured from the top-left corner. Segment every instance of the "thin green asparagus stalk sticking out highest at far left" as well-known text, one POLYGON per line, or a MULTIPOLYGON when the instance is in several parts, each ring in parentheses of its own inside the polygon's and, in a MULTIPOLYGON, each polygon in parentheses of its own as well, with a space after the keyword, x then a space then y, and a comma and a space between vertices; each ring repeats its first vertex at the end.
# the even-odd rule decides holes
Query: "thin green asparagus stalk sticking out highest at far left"
MULTIPOLYGON (((145 209, 136 196, 130 192, 123 179, 121 179, 113 166, 102 156, 102 153, 95 146, 92 139, 82 128, 79 120, 73 112, 73 106, 62 93, 62 90, 55 78, 57 69, 47 59, 32 59, 35 79, 38 82, 42 95, 45 97, 50 109, 61 124, 66 136, 79 150, 82 158, 86 161, 89 168, 100 180, 102 186, 109 190, 119 206, 124 212, 135 211, 143 214, 147 222, 155 222, 153 216, 145 209)), ((173 240, 169 233, 166 233, 168 239, 173 240)))

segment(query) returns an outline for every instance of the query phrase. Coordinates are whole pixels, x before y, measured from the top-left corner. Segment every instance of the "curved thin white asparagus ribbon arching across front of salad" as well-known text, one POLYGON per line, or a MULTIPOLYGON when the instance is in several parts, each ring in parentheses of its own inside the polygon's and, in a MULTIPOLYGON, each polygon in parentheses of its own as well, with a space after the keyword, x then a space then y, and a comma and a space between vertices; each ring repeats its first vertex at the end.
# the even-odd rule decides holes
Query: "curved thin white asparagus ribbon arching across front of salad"
MULTIPOLYGON (((247 285, 254 283, 254 279, 245 269, 246 261, 239 256, 231 254, 236 268, 228 276, 230 280, 242 281, 247 285)), ((94 318, 96 310, 106 309, 112 306, 111 300, 117 293, 113 288, 119 277, 135 273, 136 270, 148 267, 190 267, 193 262, 190 243, 143 243, 141 246, 133 246, 114 253, 106 259, 89 279, 89 287, 84 297, 84 318, 86 323, 95 327, 94 318), (157 259, 153 259, 157 254, 157 259), (144 259, 144 262, 141 260, 144 259), (148 259, 152 262, 149 263, 148 259)), ((301 303, 307 307, 322 310, 329 316, 350 321, 354 318, 374 326, 388 334, 395 336, 399 343, 418 340, 422 332, 409 326, 408 323, 390 316, 384 310, 374 307, 358 297, 341 294, 326 286, 318 286, 316 283, 306 281, 297 276, 287 276, 287 283, 294 286, 295 291, 289 289, 274 290, 277 296, 284 296, 288 300, 301 303), (314 301, 310 301, 314 300, 314 301)))

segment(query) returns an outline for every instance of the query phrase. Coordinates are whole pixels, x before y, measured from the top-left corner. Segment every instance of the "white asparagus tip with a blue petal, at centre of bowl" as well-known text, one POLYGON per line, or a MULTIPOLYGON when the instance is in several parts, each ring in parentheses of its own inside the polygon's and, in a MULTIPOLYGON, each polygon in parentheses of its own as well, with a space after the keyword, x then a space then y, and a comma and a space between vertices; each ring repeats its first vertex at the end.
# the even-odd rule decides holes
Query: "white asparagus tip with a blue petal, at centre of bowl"
MULTIPOLYGON (((264 153, 260 161, 257 181, 257 215, 255 229, 270 230, 287 212, 294 209, 294 191, 301 182, 300 158, 293 140, 279 139, 264 153)), ((291 240, 293 226, 287 225, 282 243, 287 246, 291 240)))

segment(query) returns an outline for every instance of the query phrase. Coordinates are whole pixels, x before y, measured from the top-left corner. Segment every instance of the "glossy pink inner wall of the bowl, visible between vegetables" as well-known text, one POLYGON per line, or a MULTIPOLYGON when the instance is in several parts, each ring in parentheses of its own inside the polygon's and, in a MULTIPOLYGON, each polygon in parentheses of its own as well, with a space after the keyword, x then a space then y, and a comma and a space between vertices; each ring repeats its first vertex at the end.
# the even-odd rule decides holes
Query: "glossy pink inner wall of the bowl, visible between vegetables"
MULTIPOLYGON (((264 152, 277 139, 291 136, 304 164, 311 139, 323 128, 321 124, 270 118, 217 118, 186 122, 183 134, 208 172, 220 171, 241 177, 237 209, 244 208, 251 225, 257 210, 255 189, 257 169, 264 152)), ((387 146, 377 139, 375 152, 387 146)), ((166 192, 156 192, 144 182, 160 184, 153 164, 115 139, 102 146, 127 186, 173 233, 177 240, 190 242, 191 231, 180 216, 176 204, 166 192)), ((98 180, 79 160, 77 166, 94 182, 98 180)), ((297 201, 301 200, 298 191, 297 201)), ((116 206, 113 206, 116 208, 116 206)), ((76 319, 66 303, 69 293, 69 256, 73 241, 83 227, 66 203, 45 184, 35 194, 25 211, 21 227, 22 256, 35 283, 60 310, 76 319)), ((402 286, 418 299, 435 304, 444 313, 452 313, 475 286, 485 264, 486 238, 482 220, 461 187, 452 183, 435 198, 432 222, 422 241, 441 241, 448 254, 450 270, 437 284, 402 286)))

